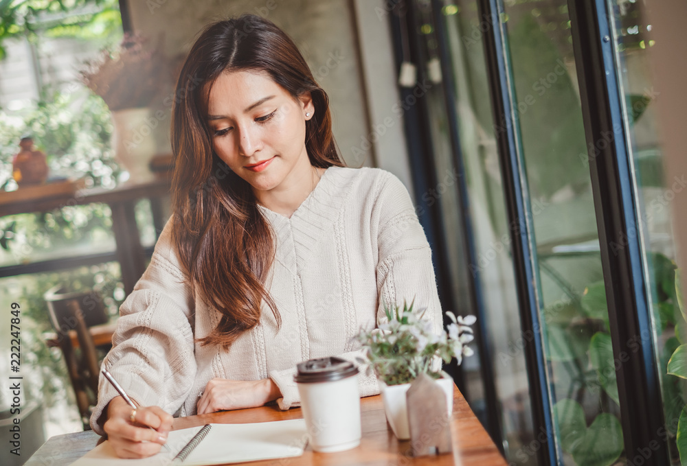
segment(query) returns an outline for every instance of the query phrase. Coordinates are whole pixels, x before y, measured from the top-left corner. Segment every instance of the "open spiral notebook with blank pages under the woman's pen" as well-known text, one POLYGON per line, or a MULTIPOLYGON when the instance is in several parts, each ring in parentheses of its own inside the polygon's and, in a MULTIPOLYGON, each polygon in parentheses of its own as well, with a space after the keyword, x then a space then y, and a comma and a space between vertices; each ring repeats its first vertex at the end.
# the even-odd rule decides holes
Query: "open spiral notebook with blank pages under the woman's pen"
POLYGON ((206 424, 172 430, 167 445, 155 456, 117 458, 104 441, 71 466, 205 466, 300 456, 307 443, 304 419, 250 424, 206 424))

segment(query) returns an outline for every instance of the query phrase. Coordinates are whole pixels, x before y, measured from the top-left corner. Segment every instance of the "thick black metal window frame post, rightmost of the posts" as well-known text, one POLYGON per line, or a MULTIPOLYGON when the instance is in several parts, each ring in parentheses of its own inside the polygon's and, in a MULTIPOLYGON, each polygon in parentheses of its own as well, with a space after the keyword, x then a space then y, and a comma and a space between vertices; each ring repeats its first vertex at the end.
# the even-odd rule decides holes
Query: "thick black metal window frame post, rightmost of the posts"
POLYGON ((642 261, 638 199, 633 187, 629 135, 618 85, 613 5, 568 0, 582 101, 589 171, 617 366, 625 455, 632 461, 649 448, 644 465, 666 465, 660 375, 655 363, 649 283, 642 261), (598 141, 612 139, 607 144, 598 141), (604 139, 606 138, 606 139, 604 139), (618 247, 620 246, 620 247, 618 247), (655 448, 655 445, 659 447, 655 448))

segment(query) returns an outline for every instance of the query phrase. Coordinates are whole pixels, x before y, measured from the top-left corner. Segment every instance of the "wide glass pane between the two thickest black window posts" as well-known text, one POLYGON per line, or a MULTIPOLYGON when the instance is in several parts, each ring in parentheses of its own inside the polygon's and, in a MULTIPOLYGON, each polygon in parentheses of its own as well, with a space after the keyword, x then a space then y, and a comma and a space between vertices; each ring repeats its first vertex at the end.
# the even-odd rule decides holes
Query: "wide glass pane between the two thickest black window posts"
POLYGON ((567 2, 504 3, 556 442, 565 465, 625 464, 567 2))

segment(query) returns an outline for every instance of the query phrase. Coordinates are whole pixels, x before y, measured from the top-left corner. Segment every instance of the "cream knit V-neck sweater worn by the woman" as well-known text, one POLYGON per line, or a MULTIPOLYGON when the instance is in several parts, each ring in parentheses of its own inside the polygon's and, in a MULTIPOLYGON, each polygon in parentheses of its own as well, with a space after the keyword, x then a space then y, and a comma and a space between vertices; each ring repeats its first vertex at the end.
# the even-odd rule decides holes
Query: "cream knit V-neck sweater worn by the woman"
MULTIPOLYGON (((376 168, 328 168, 313 192, 286 218, 260 207, 277 248, 268 283, 282 316, 264 307, 260 325, 228 351, 194 342, 210 334, 219 314, 188 286, 171 242, 161 233, 143 277, 120 308, 113 348, 103 365, 143 406, 193 415, 199 393, 213 377, 271 377, 282 392, 281 409, 298 406, 295 365, 309 358, 363 356, 353 339, 361 327, 386 320, 383 303, 415 299, 435 331, 441 309, 425 233, 407 189, 376 168)), ((374 376, 359 375, 361 396, 379 393, 374 376)), ((100 377, 98 423, 115 390, 100 377)), ((101 419, 102 422, 102 419, 101 419)))

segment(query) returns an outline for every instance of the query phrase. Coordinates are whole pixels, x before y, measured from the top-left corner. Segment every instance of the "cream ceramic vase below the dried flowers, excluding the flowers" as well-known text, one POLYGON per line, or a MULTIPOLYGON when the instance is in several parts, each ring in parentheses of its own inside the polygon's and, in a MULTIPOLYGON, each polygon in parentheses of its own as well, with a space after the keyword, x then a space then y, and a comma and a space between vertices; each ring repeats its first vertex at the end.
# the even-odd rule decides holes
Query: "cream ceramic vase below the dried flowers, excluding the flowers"
POLYGON ((112 113, 112 146, 115 159, 128 172, 128 183, 147 183, 155 178, 150 172, 150 159, 155 156, 157 119, 150 108, 124 108, 112 113))

